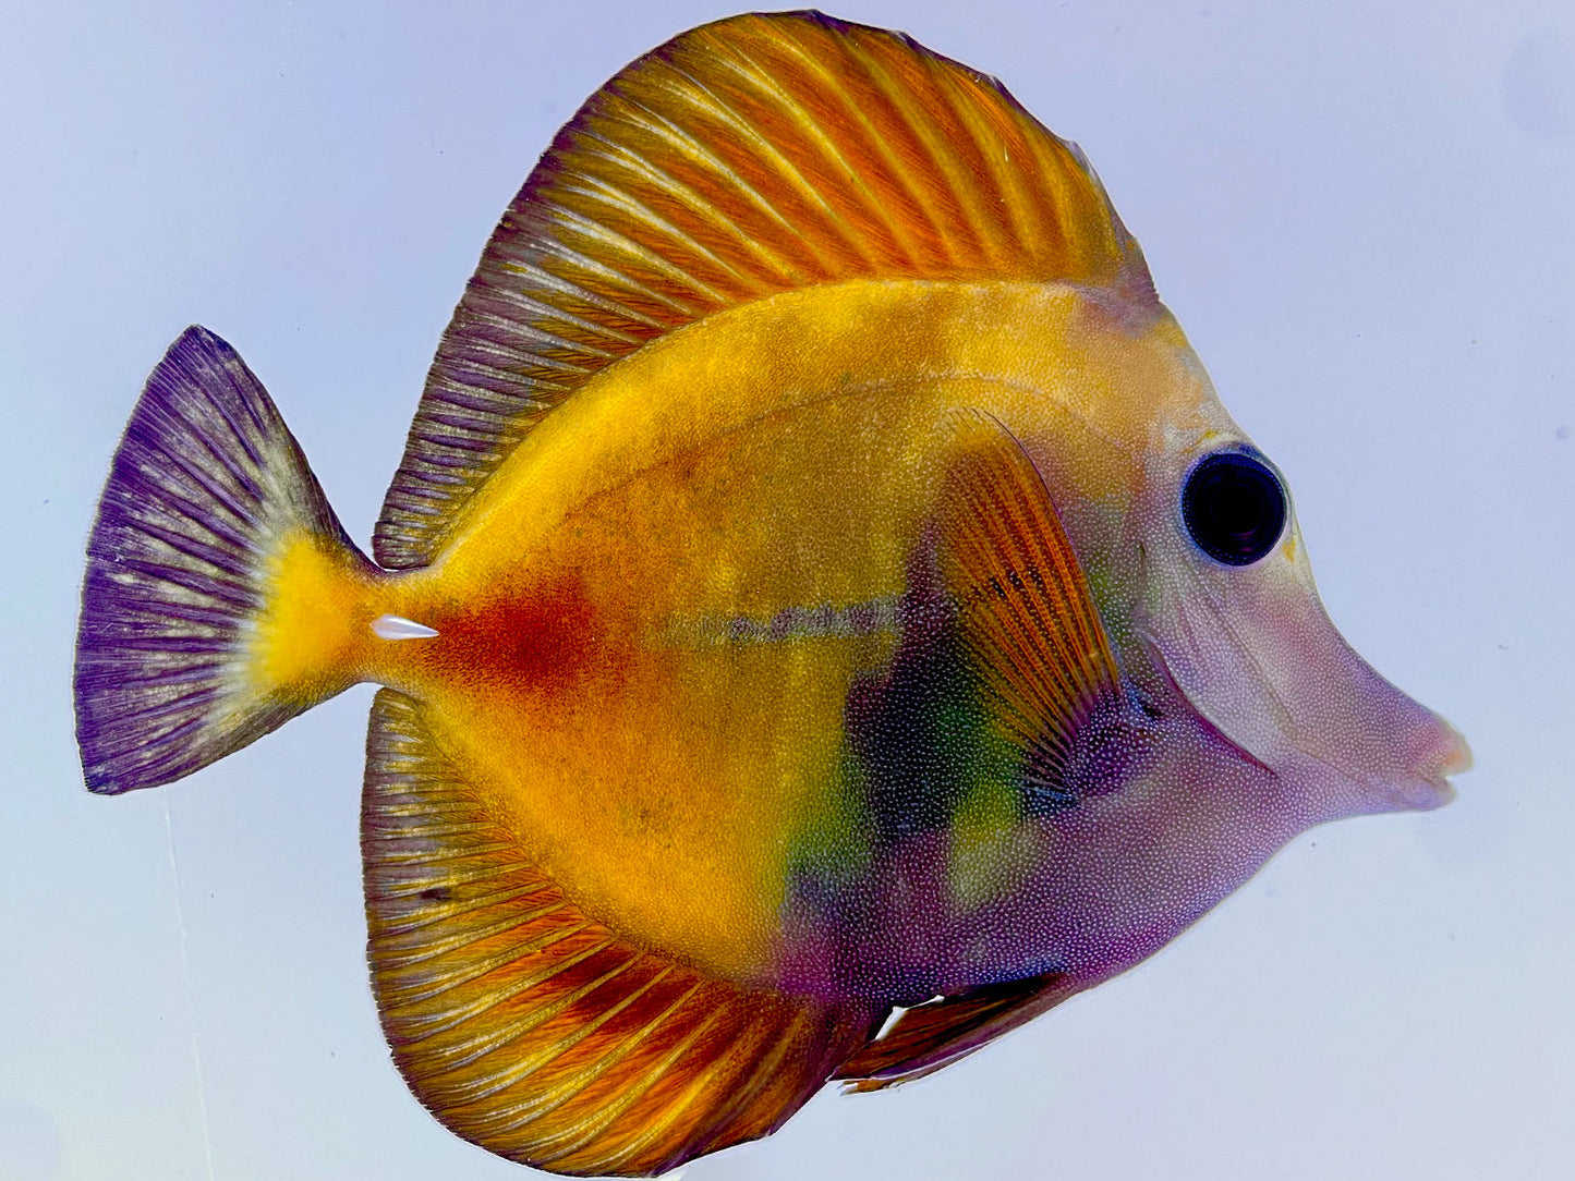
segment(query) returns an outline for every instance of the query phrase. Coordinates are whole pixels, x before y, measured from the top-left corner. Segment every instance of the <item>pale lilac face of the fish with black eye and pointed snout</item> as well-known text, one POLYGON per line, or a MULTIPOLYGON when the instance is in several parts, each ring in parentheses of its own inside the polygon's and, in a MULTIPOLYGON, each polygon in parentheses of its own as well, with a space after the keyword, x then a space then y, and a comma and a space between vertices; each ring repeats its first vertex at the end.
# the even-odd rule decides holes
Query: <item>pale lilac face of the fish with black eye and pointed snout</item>
POLYGON ((1169 409, 1132 515, 1134 639, 1153 674, 1293 786, 1312 822, 1447 803, 1469 748, 1336 628, 1284 474, 1206 378, 1169 409))

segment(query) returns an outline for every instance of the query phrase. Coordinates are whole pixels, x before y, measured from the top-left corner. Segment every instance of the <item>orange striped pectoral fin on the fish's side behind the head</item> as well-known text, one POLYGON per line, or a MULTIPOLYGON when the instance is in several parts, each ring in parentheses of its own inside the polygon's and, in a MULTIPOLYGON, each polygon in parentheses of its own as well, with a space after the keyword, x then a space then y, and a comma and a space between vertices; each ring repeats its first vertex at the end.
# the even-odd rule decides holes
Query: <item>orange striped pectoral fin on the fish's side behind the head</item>
POLYGON ((1027 753, 1033 786, 1063 790, 1079 732, 1120 702, 1120 671, 1033 461, 988 414, 959 413, 956 424, 940 576, 997 729, 1027 753))

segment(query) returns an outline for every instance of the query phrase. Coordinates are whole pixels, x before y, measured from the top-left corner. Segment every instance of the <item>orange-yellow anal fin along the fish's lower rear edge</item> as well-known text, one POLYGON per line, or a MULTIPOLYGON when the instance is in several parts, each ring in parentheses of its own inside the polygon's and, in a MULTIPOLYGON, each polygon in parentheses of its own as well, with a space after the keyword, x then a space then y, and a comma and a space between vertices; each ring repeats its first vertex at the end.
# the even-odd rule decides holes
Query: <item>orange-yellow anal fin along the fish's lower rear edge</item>
POLYGON ((880 1017, 704 976, 581 913, 392 690, 372 707, 362 852, 400 1071, 447 1127, 521 1164, 647 1175, 765 1135, 880 1017))

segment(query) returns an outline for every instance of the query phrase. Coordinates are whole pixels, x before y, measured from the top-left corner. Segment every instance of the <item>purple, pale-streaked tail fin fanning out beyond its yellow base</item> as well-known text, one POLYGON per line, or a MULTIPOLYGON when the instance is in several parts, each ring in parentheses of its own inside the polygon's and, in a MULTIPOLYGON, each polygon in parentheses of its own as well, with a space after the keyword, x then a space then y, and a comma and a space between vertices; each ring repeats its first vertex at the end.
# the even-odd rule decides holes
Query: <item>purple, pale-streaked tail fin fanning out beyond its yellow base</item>
POLYGON ((76 705, 90 790, 178 779, 350 683, 332 669, 279 683, 258 660, 299 542, 373 570, 261 383, 186 329, 148 376, 88 540, 76 705))

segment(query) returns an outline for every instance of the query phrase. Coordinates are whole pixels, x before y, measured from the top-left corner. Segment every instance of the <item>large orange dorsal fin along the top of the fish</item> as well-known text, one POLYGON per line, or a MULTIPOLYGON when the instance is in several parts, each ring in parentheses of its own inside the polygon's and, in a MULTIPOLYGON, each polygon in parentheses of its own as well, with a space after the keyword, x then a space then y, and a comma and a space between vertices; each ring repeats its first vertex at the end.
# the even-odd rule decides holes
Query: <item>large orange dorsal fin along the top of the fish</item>
POLYGON ((1077 151, 994 79, 819 13, 740 16, 622 69, 482 255, 373 539, 425 565, 553 406, 713 312, 855 279, 1153 288, 1077 151))

